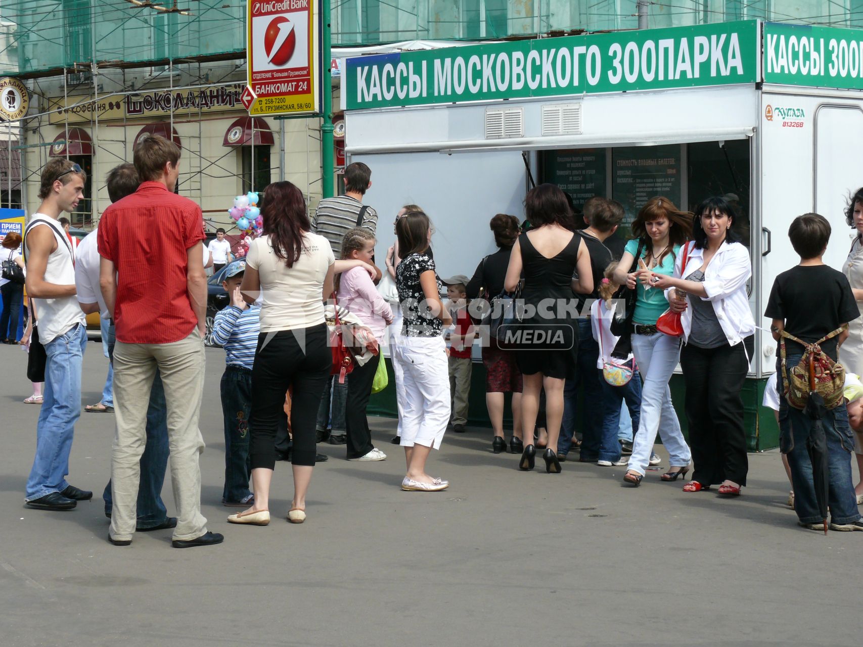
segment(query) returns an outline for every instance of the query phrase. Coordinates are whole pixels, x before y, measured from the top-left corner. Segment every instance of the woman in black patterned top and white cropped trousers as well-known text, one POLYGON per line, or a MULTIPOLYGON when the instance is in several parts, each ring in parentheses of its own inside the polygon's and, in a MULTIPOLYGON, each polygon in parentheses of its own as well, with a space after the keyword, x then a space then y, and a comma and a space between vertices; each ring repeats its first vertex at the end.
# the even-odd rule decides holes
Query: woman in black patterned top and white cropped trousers
POLYGON ((408 211, 395 225, 402 261, 395 271, 395 285, 404 316, 396 353, 404 386, 400 398, 401 440, 407 473, 401 489, 439 492, 449 481, 425 472, 431 449, 440 449, 450 421, 450 370, 446 359, 444 326, 450 311, 440 300, 443 284, 434 261, 425 252, 431 243, 431 224, 422 211, 408 211))

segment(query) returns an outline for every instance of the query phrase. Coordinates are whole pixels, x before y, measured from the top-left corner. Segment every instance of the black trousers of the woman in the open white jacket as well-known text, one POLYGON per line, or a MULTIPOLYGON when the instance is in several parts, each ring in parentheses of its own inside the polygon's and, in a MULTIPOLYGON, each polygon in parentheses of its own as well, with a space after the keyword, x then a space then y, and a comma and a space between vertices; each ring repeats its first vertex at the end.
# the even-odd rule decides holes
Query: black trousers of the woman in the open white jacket
POLYGON ((749 462, 740 389, 749 370, 746 357, 753 356, 753 346, 753 336, 748 336, 735 346, 699 349, 686 344, 680 351, 695 463, 692 479, 704 486, 726 479, 746 485, 749 462))

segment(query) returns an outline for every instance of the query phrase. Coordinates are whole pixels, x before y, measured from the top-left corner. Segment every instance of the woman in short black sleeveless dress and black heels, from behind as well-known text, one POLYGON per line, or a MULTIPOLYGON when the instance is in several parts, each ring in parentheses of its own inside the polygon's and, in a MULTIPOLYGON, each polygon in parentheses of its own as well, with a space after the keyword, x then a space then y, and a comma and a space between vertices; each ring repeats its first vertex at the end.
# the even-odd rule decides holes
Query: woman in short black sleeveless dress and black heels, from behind
MULTIPOLYGON (((515 353, 524 375, 521 395, 521 430, 529 433, 537 421, 539 393, 545 388, 545 420, 548 446, 545 471, 560 473, 554 449, 564 417, 564 383, 574 376, 578 339, 572 312, 576 310, 573 292, 593 290, 590 255, 581 236, 572 231, 572 211, 566 196, 556 185, 532 188, 525 198, 525 215, 530 231, 513 244, 504 289, 514 292, 524 271, 525 312, 523 321, 513 329, 519 349, 515 353), (578 274, 578 279, 574 275, 578 274)), ((528 437, 519 468, 533 468, 536 450, 528 437)))

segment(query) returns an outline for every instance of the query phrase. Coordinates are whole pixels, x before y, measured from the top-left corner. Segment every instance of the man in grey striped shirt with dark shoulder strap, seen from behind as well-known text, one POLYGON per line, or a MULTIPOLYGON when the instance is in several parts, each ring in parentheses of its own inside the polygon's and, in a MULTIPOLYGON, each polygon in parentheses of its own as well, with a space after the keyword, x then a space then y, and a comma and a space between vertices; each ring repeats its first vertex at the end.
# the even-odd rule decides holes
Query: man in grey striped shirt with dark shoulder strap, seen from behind
POLYGON ((342 239, 349 229, 365 227, 375 233, 377 211, 362 204, 362 197, 371 188, 371 178, 369 166, 362 162, 349 164, 344 169, 344 195, 318 203, 312 230, 330 241, 336 258, 342 257, 342 239))

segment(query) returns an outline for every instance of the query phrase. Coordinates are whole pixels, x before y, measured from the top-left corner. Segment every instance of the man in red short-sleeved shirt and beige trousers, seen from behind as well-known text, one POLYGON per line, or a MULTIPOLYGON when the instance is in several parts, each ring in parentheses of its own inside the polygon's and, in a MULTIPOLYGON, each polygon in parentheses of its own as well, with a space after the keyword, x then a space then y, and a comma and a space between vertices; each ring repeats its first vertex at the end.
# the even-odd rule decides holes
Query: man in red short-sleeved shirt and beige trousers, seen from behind
POLYGON ((173 193, 180 148, 151 135, 135 146, 138 190, 104 211, 98 227, 99 286, 117 331, 109 540, 132 542, 147 408, 156 368, 167 401, 174 548, 221 543, 201 514, 198 414, 204 391, 206 275, 201 209, 173 193))

